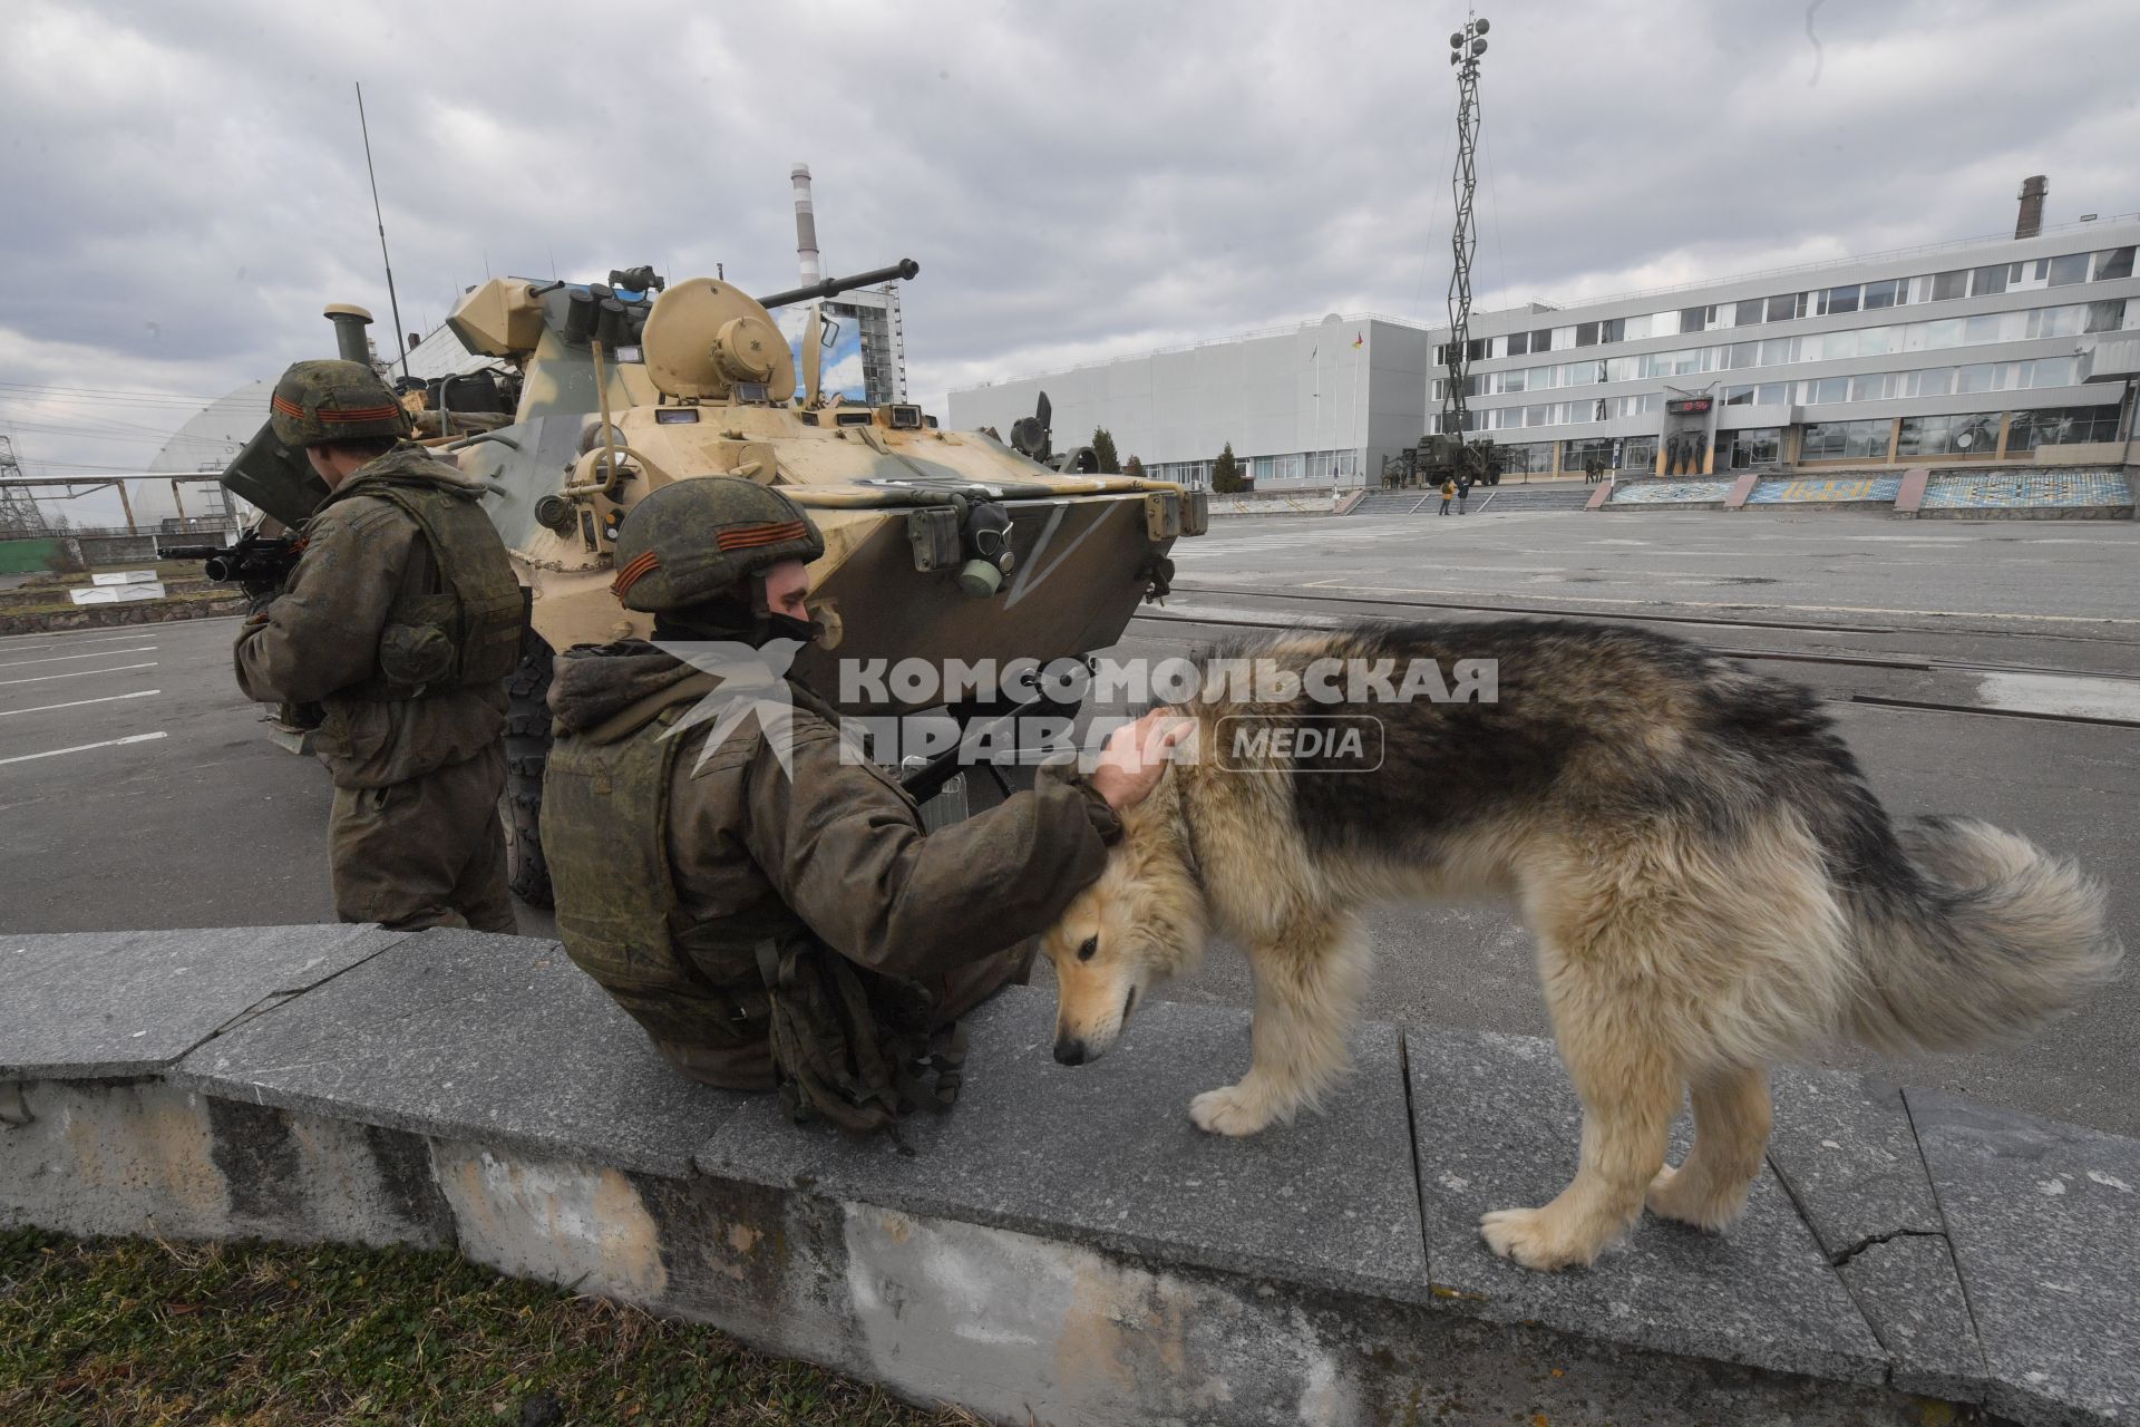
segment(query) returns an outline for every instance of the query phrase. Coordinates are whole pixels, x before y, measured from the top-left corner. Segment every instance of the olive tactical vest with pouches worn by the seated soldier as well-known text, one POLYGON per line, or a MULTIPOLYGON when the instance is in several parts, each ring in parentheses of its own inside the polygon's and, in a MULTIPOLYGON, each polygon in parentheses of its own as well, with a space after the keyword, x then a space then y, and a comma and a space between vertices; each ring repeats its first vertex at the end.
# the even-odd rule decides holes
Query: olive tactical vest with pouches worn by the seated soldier
POLYGON ((713 1072, 738 1046, 766 1044, 790 1119, 867 1132, 950 1104, 963 1025, 931 1029, 918 984, 852 965, 779 903, 717 920, 678 905, 668 794, 691 740, 663 734, 704 691, 704 680, 672 687, 672 702, 642 706, 646 723, 614 742, 552 745, 541 845, 565 954, 693 1078, 721 1083, 713 1072))

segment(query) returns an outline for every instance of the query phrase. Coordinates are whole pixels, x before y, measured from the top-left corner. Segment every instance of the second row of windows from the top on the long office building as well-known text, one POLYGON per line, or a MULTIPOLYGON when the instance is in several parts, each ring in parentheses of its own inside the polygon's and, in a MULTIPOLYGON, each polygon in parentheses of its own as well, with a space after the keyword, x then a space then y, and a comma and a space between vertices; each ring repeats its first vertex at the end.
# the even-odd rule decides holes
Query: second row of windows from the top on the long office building
MULTIPOLYGON (((1592 387, 1616 381, 1654 381, 1658 377, 1695 377, 1701 372, 1738 372, 1757 366, 1793 366, 1798 362, 1847 362, 1853 357, 1885 357, 1898 351, 1945 351, 1950 347, 1984 347, 1990 342, 2029 342, 2039 338, 2119 332, 2140 325, 2140 302, 2112 297, 2078 302, 2059 308, 2027 308, 2020 312, 1986 312, 1982 317, 1945 317, 1892 327, 1849 327, 1810 336, 1783 336, 1727 347, 1686 347, 1652 351, 1639 357, 1592 357, 1556 366, 1519 366, 1507 372, 1474 372, 1464 379, 1466 396, 1513 396, 1517 392, 1549 392, 1554 387, 1592 387)), ((1434 402, 1449 400, 1449 379, 1432 383, 1434 402)))

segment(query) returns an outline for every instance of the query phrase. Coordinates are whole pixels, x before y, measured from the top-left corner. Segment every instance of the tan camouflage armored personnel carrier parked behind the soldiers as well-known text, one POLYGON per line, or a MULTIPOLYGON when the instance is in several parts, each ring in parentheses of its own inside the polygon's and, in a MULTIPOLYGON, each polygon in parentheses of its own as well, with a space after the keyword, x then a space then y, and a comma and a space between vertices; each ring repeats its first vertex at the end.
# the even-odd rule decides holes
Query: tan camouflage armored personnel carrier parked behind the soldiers
MULTIPOLYGON (((826 552, 809 603, 828 633, 796 672, 826 695, 839 689, 837 659, 1079 659, 1166 593, 1166 552, 1205 531, 1203 492, 1064 473, 1042 464, 1046 451, 1034 460, 984 432, 942 430, 916 404, 826 396, 817 310, 800 362, 770 314, 916 272, 905 261, 766 297, 719 278, 663 285, 646 267, 608 285, 494 278, 454 308, 452 332, 492 366, 407 402, 424 409, 419 432, 437 432, 419 439, 496 492, 484 505, 529 588, 507 740, 524 899, 548 901, 537 819, 552 655, 651 631, 651 616, 610 595, 612 550, 625 513, 670 481, 736 475, 811 511, 826 552)), ((362 310, 327 314, 342 355, 364 359, 362 310)), ((265 428, 223 479, 289 526, 325 496, 304 454, 265 428)), ((890 706, 850 712, 920 712, 888 693, 890 706)), ((999 704, 946 712, 967 721, 999 704)))

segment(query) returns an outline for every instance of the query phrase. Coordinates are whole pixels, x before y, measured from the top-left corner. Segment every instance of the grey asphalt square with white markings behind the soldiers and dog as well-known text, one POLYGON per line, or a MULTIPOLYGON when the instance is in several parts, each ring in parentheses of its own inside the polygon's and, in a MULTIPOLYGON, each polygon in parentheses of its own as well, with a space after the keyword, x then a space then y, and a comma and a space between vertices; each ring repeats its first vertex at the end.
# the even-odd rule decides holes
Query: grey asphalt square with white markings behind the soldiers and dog
MULTIPOLYGON (((1175 558, 1179 593, 1130 627, 1128 653, 1177 653, 1235 623, 1494 605, 1663 618, 1774 659, 1770 672, 1832 700, 1890 809, 1971 813, 2080 858, 2140 946, 2140 528, 2127 522, 1233 518, 1175 558)), ((334 916, 327 781, 235 693, 233 633, 197 620, 0 640, 0 933, 334 916)), ((524 909, 522 929, 548 935, 550 920, 524 909)), ((1393 907, 1372 937, 1367 1014, 1545 1031, 1530 941, 1507 911, 1393 907)), ((2140 1134, 2136 984, 2022 1046, 1892 1074, 2140 1134)), ((1162 995, 1248 1003, 1245 963, 1218 946, 1162 995)))

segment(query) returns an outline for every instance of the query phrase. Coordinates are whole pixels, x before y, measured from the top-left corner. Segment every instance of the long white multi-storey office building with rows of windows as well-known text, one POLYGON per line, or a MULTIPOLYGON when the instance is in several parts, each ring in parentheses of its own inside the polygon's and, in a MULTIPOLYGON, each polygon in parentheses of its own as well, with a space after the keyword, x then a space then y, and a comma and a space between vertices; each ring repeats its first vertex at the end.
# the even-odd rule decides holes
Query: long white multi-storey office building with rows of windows
POLYGON ((1534 473, 2123 464, 2127 381, 2095 355, 2140 327, 2136 246, 2127 216, 1481 312, 1468 430, 1534 473))

